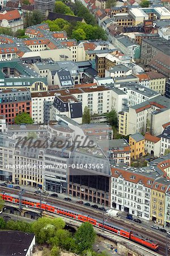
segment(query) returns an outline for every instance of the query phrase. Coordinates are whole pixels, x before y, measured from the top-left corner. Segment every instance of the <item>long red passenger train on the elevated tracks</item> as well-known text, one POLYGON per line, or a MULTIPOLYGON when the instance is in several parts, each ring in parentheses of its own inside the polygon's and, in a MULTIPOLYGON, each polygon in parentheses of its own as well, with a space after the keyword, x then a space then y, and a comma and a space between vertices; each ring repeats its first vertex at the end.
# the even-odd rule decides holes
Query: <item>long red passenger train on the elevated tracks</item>
MULTIPOLYGON (((19 204, 19 197, 17 195, 9 195, 7 193, 0 193, 2 196, 2 199, 14 204, 19 204)), ((27 205, 28 207, 38 208, 40 209, 40 201, 36 199, 29 199, 27 197, 23 197, 22 199, 22 205, 27 205)), ((61 216, 66 216, 70 218, 74 218, 75 220, 82 221, 82 222, 90 222, 92 225, 97 226, 101 229, 108 230, 109 232, 112 232, 114 234, 117 234, 118 236, 125 237, 131 241, 134 241, 136 243, 139 243, 142 246, 146 246, 151 250, 158 250, 159 245, 157 242, 149 240, 146 237, 143 237, 140 234, 136 234, 131 230, 122 228, 121 226, 114 225, 112 222, 105 222, 103 224, 103 221, 100 219, 97 219, 95 217, 90 217, 82 215, 80 212, 64 209, 62 207, 57 207, 56 205, 50 205, 46 202, 42 202, 41 209, 46 210, 48 212, 56 213, 61 216)))

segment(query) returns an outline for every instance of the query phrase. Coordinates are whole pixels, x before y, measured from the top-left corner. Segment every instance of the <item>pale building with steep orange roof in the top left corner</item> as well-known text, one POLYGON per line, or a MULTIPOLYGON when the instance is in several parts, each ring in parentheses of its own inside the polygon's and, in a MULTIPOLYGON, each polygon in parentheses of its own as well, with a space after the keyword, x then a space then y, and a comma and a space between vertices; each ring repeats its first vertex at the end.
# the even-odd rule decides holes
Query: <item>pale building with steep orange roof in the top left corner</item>
POLYGON ((20 15, 19 10, 14 9, 0 13, 0 26, 4 28, 11 28, 14 33, 17 30, 23 30, 23 18, 20 15))

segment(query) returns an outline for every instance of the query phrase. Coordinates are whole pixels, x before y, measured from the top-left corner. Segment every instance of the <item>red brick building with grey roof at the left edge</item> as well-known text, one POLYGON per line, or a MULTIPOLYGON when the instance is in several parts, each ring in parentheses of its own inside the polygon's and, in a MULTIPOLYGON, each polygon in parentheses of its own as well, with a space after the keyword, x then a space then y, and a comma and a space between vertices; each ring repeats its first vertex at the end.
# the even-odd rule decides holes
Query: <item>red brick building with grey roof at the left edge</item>
POLYGON ((15 122, 16 115, 25 112, 31 117, 31 93, 26 88, 7 89, 0 92, 1 115, 9 125, 15 122))

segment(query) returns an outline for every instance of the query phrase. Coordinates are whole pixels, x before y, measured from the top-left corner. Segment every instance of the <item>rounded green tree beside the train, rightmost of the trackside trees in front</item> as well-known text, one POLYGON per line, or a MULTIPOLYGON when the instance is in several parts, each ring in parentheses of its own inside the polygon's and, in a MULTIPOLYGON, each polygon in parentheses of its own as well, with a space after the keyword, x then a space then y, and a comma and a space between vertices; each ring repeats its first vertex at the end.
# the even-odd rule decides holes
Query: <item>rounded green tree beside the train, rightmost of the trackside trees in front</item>
POLYGON ((78 253, 82 253, 84 250, 92 249, 92 245, 95 242, 96 233, 89 222, 84 222, 75 233, 75 242, 78 247, 78 253))

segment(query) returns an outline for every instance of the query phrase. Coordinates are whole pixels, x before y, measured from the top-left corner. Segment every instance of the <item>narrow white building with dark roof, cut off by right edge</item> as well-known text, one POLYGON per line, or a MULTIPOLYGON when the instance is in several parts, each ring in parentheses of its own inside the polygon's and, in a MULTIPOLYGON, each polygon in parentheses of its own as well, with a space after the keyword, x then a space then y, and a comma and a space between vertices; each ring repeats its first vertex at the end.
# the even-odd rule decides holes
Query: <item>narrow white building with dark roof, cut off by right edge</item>
POLYGON ((160 135, 160 138, 160 154, 163 156, 165 154, 165 150, 170 151, 170 125, 165 127, 163 133, 160 135))

